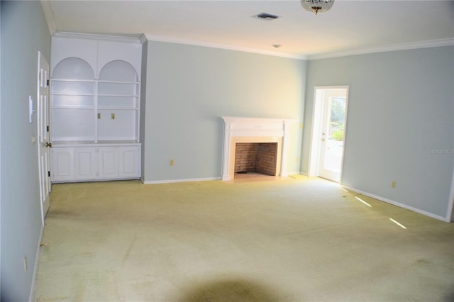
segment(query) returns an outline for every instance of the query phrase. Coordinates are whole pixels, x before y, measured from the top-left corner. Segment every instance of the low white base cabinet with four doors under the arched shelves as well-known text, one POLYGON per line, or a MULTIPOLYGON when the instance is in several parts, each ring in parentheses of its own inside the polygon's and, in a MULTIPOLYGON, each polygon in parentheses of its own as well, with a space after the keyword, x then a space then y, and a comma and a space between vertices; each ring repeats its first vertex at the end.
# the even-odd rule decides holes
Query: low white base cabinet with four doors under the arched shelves
POLYGON ((52 147, 54 182, 140 178, 140 144, 52 147))

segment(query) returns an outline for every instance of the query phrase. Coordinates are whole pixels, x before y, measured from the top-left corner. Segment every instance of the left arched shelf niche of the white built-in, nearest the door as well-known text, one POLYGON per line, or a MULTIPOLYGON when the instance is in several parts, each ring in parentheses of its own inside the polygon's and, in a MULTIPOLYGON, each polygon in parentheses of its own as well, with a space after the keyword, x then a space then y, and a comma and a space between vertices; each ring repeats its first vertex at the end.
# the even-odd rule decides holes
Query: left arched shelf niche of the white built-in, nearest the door
POLYGON ((55 65, 50 84, 52 142, 94 141, 96 80, 89 63, 67 57, 55 65))

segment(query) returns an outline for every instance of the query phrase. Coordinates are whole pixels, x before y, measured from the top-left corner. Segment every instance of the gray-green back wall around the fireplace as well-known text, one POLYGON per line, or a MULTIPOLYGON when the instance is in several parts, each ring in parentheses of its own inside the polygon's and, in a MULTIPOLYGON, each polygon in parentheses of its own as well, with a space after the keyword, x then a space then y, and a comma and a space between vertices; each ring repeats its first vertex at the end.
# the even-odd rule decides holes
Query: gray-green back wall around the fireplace
POLYGON ((306 62, 148 41, 146 67, 145 181, 221 177, 221 116, 297 119, 287 168, 299 171, 306 62))

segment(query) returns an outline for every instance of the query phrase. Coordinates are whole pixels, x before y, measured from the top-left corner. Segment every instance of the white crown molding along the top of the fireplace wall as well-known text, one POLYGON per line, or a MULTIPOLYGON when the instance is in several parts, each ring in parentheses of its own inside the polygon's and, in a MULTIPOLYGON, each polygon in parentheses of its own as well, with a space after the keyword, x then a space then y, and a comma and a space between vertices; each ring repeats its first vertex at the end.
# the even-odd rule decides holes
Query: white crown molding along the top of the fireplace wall
POLYGON ((176 43, 176 44, 184 44, 184 45, 194 45, 194 46, 203 46, 203 47, 211 47, 211 48, 221 48, 224 50, 236 50, 242 52, 253 52, 260 55, 272 55, 275 57, 288 57, 290 59, 297 59, 297 60, 306 60, 307 57, 305 55, 294 55, 290 53, 284 52, 273 52, 267 50, 258 50, 255 48, 248 48, 248 47, 239 47, 234 45, 227 45, 221 43, 211 43, 211 42, 201 42, 196 40, 184 40, 179 38, 172 38, 163 35, 150 35, 148 33, 144 33, 140 40, 145 41, 156 41, 156 42, 166 42, 166 43, 176 43))

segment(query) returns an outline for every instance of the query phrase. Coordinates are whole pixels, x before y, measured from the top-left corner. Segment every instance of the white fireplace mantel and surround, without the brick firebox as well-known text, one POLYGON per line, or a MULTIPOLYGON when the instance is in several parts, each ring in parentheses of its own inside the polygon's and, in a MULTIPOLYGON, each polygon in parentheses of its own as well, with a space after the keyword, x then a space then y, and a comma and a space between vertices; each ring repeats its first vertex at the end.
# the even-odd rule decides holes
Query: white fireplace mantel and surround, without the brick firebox
POLYGON ((290 123, 296 120, 284 118, 236 118, 223 117, 224 147, 222 180, 233 179, 235 169, 235 142, 277 142, 281 154, 277 167, 279 176, 287 174, 287 150, 289 146, 290 123))

